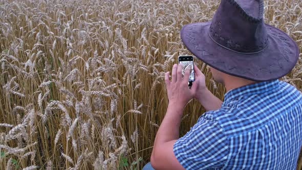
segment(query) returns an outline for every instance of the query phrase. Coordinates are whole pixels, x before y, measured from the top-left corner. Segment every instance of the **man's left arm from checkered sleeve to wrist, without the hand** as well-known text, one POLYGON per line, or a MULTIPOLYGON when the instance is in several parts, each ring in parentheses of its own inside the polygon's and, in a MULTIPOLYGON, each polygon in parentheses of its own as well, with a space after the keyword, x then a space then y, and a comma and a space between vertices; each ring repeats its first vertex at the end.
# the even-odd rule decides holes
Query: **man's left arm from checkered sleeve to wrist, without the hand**
POLYGON ((222 167, 229 155, 229 143, 219 122, 209 115, 199 121, 182 138, 179 125, 184 107, 168 105, 157 132, 151 155, 155 169, 208 169, 222 167))

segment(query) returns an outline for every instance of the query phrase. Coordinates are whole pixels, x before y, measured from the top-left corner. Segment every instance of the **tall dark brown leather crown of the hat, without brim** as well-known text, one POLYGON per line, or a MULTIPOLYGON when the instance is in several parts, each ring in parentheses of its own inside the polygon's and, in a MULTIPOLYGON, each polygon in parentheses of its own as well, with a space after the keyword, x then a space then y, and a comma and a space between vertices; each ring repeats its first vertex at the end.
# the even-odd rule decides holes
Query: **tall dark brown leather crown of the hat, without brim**
POLYGON ((221 0, 209 29, 220 46, 239 53, 257 53, 268 44, 262 0, 221 0))

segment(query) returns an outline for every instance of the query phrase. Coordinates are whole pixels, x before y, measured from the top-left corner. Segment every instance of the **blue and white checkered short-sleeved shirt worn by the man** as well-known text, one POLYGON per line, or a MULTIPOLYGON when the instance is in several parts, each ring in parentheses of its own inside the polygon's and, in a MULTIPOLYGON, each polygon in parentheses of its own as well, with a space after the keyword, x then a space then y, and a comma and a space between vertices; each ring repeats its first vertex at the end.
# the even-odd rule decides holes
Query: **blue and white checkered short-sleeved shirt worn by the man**
POLYGON ((295 169, 302 144, 302 94, 275 79, 225 94, 173 151, 186 169, 295 169))

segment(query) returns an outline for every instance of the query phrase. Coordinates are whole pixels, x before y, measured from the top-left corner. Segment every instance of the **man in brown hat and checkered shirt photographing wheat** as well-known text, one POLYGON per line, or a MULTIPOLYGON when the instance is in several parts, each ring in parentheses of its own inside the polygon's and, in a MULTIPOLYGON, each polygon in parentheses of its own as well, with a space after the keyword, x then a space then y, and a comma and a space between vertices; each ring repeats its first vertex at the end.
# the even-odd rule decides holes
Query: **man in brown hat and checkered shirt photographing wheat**
POLYGON ((263 22, 263 1, 221 0, 211 22, 185 25, 185 46, 225 85, 224 101, 211 94, 202 72, 174 65, 165 83, 169 104, 143 169, 295 169, 302 144, 302 95, 278 78, 295 66, 299 49, 283 31, 263 22), (206 113, 183 137, 186 103, 206 113), (152 165, 152 166, 151 166, 152 165))

